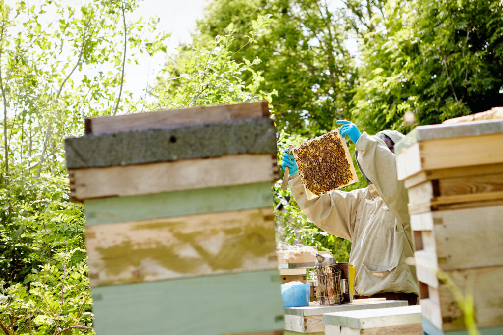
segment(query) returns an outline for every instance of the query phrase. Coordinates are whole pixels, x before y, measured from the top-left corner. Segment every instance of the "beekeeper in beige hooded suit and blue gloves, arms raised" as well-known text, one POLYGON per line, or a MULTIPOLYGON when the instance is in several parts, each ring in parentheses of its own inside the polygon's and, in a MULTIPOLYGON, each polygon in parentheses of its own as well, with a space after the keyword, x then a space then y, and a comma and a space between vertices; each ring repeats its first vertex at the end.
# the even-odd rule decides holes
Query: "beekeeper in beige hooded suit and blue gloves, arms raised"
POLYGON ((355 297, 385 297, 416 304, 415 268, 407 191, 396 177, 394 145, 404 136, 382 131, 361 134, 357 126, 339 120, 341 135, 356 143, 357 163, 369 182, 365 188, 332 191, 307 200, 297 164, 288 149, 282 167, 290 168, 290 189, 307 217, 325 232, 352 242, 349 263, 355 265, 355 297))

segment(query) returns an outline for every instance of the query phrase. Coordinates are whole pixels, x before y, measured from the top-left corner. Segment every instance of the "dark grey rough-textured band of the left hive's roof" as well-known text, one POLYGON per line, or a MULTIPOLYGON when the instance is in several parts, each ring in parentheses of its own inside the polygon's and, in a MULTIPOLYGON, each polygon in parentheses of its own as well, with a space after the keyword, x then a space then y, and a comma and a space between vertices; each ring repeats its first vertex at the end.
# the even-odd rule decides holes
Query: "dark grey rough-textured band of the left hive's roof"
POLYGON ((68 169, 169 162, 233 154, 276 154, 268 118, 65 140, 68 169))

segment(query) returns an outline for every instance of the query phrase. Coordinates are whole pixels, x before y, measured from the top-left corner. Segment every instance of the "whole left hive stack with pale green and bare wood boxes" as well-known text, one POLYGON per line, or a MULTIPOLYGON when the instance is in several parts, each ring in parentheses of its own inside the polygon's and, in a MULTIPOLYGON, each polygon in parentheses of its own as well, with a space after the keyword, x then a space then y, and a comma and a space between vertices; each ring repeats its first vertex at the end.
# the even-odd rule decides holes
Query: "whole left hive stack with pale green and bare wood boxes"
POLYGON ((99 334, 283 329, 267 102, 87 120, 67 139, 99 334))

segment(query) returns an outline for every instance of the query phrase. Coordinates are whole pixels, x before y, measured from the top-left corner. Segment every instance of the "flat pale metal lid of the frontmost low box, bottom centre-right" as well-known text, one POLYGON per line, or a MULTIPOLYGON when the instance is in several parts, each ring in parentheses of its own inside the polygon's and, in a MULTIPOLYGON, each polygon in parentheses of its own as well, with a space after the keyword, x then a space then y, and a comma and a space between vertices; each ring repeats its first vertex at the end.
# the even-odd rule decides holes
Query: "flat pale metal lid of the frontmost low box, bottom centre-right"
POLYGON ((421 323, 421 306, 398 306, 323 314, 325 324, 356 329, 421 323))

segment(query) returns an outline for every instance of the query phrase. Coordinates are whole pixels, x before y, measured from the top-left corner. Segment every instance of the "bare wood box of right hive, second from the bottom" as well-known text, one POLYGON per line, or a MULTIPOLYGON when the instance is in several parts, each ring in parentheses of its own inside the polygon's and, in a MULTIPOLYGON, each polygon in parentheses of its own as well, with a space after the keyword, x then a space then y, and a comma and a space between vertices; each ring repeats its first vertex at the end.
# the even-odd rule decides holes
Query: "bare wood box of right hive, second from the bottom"
POLYGON ((421 232, 422 240, 414 257, 444 271, 502 266, 502 218, 503 205, 411 215, 414 236, 421 232))

